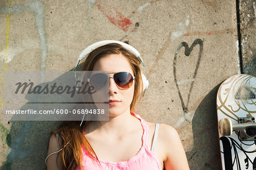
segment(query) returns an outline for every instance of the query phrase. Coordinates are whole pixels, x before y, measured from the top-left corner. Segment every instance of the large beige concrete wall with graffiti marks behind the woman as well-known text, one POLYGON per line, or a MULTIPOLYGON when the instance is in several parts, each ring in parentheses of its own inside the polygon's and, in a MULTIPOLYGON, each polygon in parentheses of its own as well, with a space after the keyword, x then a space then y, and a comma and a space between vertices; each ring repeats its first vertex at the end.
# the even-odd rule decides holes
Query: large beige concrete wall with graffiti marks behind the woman
MULTIPOLYGON (((240 73, 235 1, 6 0, 0 18, 1 96, 6 70, 70 70, 93 42, 128 40, 150 82, 136 112, 176 128, 191 169, 221 169, 216 94, 240 73)), ((1 168, 46 169, 57 124, 1 118, 1 168)))

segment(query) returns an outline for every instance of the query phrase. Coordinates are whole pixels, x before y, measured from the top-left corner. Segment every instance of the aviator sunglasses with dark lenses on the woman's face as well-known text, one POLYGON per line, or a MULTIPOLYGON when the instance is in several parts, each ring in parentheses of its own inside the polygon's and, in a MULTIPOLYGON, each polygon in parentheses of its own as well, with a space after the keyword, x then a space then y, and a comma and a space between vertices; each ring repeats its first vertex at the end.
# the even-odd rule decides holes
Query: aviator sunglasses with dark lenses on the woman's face
POLYGON ((118 73, 95 73, 90 75, 88 82, 90 86, 94 87, 94 90, 102 90, 109 83, 109 79, 113 78, 117 87, 122 90, 127 90, 133 85, 133 80, 135 76, 131 75, 129 72, 118 72, 118 73), (114 74, 109 76, 109 74, 114 74))

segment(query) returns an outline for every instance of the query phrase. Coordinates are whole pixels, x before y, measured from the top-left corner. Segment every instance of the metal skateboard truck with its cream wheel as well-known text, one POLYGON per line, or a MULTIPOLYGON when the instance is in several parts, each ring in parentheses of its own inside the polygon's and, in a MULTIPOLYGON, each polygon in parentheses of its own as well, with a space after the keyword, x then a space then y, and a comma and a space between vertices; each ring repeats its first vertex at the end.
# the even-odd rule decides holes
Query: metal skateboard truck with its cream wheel
POLYGON ((232 131, 238 131, 241 141, 256 141, 256 123, 254 117, 240 117, 238 124, 233 124, 229 118, 223 118, 219 122, 220 134, 230 136, 232 131))

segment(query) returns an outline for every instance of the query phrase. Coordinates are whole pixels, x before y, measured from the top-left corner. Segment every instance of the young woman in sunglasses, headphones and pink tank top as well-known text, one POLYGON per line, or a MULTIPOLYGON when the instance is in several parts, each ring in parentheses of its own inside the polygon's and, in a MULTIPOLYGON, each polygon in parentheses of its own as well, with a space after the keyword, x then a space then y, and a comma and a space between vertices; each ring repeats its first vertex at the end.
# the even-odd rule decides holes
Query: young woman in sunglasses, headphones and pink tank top
POLYGON ((123 42, 111 42, 100 42, 106 45, 90 52, 81 69, 106 73, 100 90, 109 95, 109 121, 61 124, 51 136, 48 154, 63 149, 49 156, 47 169, 189 169, 177 131, 133 112, 143 92, 139 53, 123 42))

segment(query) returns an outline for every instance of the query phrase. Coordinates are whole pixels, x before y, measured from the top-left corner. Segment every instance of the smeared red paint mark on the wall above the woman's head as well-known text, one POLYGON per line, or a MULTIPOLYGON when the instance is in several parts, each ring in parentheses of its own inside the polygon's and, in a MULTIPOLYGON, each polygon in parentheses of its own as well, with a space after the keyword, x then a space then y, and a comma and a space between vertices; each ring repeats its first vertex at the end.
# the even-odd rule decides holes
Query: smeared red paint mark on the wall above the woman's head
POLYGON ((96 6, 98 10, 100 10, 106 16, 106 18, 108 18, 110 23, 114 24, 123 31, 129 31, 129 28, 133 25, 130 19, 122 15, 121 12, 119 12, 116 8, 113 8, 113 6, 101 6, 99 3, 96 3, 96 6))

